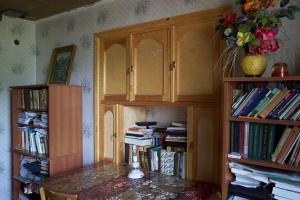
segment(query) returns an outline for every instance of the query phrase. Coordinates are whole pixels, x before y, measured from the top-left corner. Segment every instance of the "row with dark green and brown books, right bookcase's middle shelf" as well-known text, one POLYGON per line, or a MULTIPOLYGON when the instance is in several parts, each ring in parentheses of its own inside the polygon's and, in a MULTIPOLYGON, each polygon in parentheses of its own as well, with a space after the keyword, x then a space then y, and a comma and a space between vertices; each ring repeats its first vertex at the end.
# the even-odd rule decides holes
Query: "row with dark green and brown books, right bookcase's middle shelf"
POLYGON ((299 166, 299 127, 283 130, 283 127, 275 125, 232 122, 230 140, 230 151, 244 157, 299 166))

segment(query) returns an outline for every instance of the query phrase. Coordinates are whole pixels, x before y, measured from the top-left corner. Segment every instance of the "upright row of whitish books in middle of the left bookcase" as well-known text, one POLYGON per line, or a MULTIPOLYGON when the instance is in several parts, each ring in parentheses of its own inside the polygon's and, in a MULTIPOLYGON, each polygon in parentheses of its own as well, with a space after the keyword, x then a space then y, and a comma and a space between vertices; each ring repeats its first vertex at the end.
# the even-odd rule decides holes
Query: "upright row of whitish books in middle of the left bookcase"
POLYGON ((41 155, 48 154, 47 130, 19 126, 21 144, 20 149, 41 155))

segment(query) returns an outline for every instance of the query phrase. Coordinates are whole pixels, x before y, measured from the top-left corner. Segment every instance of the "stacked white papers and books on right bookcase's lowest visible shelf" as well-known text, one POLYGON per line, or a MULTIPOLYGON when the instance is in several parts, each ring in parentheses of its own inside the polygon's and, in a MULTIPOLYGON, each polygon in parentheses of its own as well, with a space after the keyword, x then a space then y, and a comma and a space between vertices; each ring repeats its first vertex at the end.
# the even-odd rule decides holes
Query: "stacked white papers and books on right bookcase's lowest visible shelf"
POLYGON ((300 176, 231 162, 234 180, 228 199, 300 199, 300 176))

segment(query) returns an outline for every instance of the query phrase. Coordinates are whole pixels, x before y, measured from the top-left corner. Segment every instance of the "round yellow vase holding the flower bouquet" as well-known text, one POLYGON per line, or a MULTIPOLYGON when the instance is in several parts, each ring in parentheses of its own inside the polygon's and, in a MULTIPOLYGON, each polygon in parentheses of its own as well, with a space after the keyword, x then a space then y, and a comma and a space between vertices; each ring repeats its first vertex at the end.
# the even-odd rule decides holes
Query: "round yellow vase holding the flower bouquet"
POLYGON ((246 76, 261 76, 268 65, 268 60, 263 55, 247 55, 242 58, 242 72, 246 76))

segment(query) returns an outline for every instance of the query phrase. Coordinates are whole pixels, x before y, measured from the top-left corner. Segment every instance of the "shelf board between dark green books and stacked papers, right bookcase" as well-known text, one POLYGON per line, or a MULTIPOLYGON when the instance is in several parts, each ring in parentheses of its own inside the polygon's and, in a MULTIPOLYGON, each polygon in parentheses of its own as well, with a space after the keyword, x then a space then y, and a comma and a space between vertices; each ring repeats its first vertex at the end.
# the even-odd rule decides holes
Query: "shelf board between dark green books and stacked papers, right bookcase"
POLYGON ((249 164, 249 165, 255 165, 259 167, 267 167, 272 169, 279 169, 279 170, 285 170, 285 171, 291 171, 291 172, 300 172, 300 167, 293 167, 289 165, 281 165, 277 164, 271 161, 264 161, 264 160, 251 160, 246 158, 228 158, 228 161, 242 163, 242 164, 249 164))

